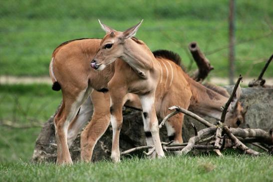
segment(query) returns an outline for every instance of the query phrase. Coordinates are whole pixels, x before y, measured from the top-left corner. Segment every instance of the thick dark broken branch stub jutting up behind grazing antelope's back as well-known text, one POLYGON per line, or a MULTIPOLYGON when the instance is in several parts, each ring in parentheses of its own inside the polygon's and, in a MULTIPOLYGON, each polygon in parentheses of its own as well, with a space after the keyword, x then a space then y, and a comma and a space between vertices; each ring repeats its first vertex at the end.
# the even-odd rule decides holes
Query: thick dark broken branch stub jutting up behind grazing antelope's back
POLYGON ((194 73, 193 79, 195 81, 204 80, 208 76, 209 72, 214 69, 214 67, 211 66, 210 61, 202 53, 197 42, 191 42, 189 44, 189 49, 198 66, 198 70, 194 73))

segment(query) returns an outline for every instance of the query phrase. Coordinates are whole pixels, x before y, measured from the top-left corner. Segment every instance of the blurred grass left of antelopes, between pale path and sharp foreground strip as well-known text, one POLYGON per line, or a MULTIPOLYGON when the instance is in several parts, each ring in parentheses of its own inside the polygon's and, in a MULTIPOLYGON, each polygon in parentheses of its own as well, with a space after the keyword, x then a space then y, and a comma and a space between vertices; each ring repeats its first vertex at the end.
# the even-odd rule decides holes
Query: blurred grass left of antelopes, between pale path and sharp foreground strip
MULTIPOLYGON (((61 101, 61 92, 49 85, 0 85, 0 123, 17 125, 45 122, 61 101)), ((41 128, 16 129, 0 125, 0 163, 27 161, 41 128)))

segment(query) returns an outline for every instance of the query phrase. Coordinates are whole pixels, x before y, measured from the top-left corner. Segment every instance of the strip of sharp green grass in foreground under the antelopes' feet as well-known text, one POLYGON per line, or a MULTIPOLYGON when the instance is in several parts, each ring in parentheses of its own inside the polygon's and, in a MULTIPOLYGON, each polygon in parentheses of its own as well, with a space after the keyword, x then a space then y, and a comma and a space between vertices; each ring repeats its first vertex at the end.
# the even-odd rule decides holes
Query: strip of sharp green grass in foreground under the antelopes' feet
POLYGON ((80 182, 272 182, 273 158, 225 154, 167 157, 162 160, 127 159, 58 167, 52 163, 0 165, 0 181, 80 182))

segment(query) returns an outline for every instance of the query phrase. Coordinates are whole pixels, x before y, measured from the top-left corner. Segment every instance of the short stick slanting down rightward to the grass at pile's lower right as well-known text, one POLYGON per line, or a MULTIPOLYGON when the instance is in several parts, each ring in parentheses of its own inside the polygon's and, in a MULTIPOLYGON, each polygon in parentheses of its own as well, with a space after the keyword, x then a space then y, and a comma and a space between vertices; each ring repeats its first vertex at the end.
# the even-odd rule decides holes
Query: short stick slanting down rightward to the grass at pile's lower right
POLYGON ((234 148, 239 148, 240 150, 244 151, 246 154, 250 154, 253 156, 258 156, 260 153, 256 152, 252 149, 249 149, 245 144, 243 144, 238 138, 236 138, 229 128, 227 126, 224 126, 224 131, 227 133, 227 135, 231 138, 231 140, 234 143, 234 148))

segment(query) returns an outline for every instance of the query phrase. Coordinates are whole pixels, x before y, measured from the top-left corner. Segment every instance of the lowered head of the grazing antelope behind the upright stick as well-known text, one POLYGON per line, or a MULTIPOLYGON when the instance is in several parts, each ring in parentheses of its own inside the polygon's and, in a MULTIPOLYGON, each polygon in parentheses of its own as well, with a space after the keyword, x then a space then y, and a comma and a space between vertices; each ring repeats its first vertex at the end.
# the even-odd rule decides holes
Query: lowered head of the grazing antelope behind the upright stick
POLYGON ((229 112, 227 113, 225 119, 225 123, 233 128, 237 128, 243 123, 245 123, 245 114, 247 113, 247 108, 244 109, 241 103, 239 102, 241 93, 242 90, 241 87, 239 86, 231 102, 229 112))

